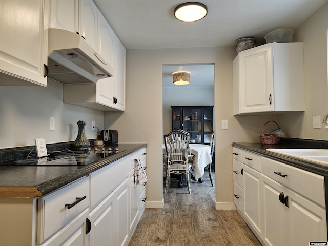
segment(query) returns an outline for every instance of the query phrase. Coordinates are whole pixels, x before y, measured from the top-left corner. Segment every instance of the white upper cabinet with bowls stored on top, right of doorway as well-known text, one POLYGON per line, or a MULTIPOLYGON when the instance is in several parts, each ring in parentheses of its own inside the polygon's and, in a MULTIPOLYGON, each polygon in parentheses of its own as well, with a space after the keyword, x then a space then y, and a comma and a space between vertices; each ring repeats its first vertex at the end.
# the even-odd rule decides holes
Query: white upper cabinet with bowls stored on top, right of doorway
POLYGON ((269 43, 233 61, 234 115, 304 111, 303 43, 269 43))

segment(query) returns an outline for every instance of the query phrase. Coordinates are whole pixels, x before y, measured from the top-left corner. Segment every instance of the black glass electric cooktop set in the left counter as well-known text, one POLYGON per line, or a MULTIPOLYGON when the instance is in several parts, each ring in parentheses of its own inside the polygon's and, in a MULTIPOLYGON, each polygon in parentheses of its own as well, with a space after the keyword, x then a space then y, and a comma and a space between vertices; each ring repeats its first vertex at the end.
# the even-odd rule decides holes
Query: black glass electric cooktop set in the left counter
POLYGON ((84 166, 95 161, 105 159, 112 155, 124 152, 111 147, 94 147, 86 150, 66 149, 61 151, 48 151, 48 156, 35 157, 27 156, 2 162, 1 165, 18 166, 84 166))

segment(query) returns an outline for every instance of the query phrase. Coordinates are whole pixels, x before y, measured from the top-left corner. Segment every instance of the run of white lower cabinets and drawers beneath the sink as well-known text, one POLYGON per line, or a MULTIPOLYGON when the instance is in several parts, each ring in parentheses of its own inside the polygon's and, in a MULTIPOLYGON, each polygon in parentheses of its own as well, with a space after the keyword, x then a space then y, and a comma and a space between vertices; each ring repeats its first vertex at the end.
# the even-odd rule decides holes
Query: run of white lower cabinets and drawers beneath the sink
MULTIPOLYGON (((324 177, 264 156, 257 158, 249 151, 242 150, 242 156, 247 159, 242 177, 234 174, 234 194, 243 193, 244 210, 239 199, 234 201, 260 242, 270 246, 326 242, 324 177), (240 178, 243 187, 237 183, 240 178)), ((236 171, 240 162, 233 157, 236 171)))

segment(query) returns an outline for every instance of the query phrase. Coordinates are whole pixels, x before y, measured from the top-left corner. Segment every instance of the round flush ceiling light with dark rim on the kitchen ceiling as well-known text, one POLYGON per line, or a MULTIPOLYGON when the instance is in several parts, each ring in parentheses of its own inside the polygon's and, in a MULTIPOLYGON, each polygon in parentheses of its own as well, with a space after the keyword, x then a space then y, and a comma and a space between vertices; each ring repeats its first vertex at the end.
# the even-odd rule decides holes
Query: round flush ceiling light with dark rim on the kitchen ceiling
POLYGON ((174 10, 174 16, 181 22, 197 22, 207 15, 206 5, 198 2, 188 2, 178 5, 174 10))

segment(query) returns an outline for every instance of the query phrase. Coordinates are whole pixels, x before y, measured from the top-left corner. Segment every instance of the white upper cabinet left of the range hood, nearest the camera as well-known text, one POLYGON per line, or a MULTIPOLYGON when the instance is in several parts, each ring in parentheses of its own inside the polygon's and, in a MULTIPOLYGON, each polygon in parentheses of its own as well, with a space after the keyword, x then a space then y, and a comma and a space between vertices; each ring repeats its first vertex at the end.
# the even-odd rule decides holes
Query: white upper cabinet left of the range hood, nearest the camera
POLYGON ((0 85, 47 85, 48 0, 0 2, 0 85))

